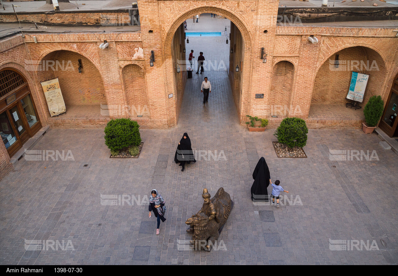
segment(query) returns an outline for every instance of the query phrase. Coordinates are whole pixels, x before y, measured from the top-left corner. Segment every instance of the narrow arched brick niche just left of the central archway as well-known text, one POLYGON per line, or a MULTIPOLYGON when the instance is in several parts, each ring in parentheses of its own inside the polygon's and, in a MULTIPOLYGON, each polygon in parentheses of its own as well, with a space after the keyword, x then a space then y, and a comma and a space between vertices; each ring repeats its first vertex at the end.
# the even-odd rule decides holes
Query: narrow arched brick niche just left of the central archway
POLYGON ((140 66, 129 64, 122 71, 129 117, 150 117, 144 72, 140 66))

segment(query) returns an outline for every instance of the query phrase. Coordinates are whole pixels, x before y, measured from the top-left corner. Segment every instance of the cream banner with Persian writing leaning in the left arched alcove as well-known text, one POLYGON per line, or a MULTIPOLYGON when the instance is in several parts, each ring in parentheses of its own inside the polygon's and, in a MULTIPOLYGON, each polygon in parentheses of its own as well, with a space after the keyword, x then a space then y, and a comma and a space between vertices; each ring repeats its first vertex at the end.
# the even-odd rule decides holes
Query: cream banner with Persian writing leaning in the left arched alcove
POLYGON ((41 82, 51 117, 66 111, 64 98, 59 87, 58 78, 41 82))

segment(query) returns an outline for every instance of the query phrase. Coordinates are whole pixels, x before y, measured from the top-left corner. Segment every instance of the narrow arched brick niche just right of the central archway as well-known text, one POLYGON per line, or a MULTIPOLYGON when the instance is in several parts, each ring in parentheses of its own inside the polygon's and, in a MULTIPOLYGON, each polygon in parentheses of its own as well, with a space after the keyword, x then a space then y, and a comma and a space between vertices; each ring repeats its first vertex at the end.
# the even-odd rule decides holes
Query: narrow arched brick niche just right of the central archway
POLYGON ((289 115, 294 87, 295 68, 291 62, 280 61, 273 66, 269 106, 271 115, 289 115))

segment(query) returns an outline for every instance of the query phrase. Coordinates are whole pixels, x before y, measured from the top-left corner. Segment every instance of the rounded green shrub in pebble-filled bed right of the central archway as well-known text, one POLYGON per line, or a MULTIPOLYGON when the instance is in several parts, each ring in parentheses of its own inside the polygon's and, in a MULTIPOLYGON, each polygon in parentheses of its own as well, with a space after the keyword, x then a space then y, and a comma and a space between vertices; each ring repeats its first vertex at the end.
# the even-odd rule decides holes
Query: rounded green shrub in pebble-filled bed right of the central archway
POLYGON ((289 148, 304 147, 307 142, 308 128, 303 119, 285 118, 275 131, 274 135, 278 142, 285 144, 289 148))

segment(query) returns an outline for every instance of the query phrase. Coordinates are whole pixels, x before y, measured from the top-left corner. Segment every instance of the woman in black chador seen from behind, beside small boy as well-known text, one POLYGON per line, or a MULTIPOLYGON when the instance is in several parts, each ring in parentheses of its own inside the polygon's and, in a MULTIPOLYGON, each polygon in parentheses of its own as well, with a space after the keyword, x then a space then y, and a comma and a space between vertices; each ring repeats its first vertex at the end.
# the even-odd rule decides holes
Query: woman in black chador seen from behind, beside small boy
POLYGON ((264 157, 258 160, 256 169, 253 172, 253 185, 251 189, 252 201, 268 201, 267 187, 271 183, 271 177, 269 175, 269 169, 267 162, 264 157))

